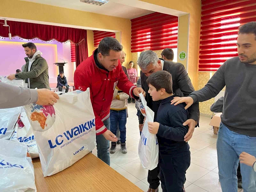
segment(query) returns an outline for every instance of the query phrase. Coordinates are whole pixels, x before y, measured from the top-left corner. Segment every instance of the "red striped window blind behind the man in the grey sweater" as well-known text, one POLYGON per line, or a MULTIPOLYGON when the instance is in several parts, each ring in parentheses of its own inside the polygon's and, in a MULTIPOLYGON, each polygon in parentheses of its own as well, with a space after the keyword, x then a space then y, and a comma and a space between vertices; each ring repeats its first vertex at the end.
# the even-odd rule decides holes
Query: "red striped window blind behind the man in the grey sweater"
POLYGON ((238 28, 256 21, 255 0, 202 0, 199 71, 217 71, 236 57, 238 28))

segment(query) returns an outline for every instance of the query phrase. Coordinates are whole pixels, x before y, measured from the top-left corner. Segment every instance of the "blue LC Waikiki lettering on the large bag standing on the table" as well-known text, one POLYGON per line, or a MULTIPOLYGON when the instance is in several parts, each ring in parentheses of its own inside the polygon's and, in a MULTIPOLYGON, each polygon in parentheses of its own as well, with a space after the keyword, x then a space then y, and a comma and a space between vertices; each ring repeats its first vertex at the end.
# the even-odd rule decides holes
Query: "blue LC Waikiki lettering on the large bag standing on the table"
POLYGON ((50 148, 55 148, 55 147, 57 147, 57 145, 61 145, 63 143, 64 139, 70 140, 74 136, 77 136, 78 134, 86 132, 94 126, 95 126, 94 119, 92 119, 91 121, 85 122, 84 124, 79 125, 79 127, 74 127, 70 131, 64 132, 63 133, 64 136, 58 135, 55 139, 55 143, 56 143, 55 145, 54 145, 54 141, 48 140, 49 146, 50 146, 50 148), (59 140, 59 138, 61 138, 61 137, 63 137, 64 139, 59 140))

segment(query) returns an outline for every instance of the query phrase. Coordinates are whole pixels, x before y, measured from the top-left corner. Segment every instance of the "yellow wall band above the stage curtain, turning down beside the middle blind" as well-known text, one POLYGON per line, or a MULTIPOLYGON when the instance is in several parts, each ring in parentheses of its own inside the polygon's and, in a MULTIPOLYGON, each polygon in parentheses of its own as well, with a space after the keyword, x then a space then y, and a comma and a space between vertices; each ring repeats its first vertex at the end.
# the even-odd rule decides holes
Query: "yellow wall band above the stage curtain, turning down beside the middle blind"
POLYGON ((1 0, 0 17, 45 21, 121 31, 123 36, 122 44, 124 46, 124 52, 127 54, 127 60, 131 60, 130 19, 18 0, 1 0), (29 10, 28 13, 25 13, 26 10, 29 10))

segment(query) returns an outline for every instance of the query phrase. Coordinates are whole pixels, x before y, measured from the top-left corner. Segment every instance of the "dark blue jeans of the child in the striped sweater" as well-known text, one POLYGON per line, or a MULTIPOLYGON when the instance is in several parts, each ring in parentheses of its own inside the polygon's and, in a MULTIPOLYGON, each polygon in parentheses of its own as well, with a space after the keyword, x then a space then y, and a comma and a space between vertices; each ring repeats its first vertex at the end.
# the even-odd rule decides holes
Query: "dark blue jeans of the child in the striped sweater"
POLYGON ((117 124, 120 130, 120 141, 126 141, 126 109, 121 111, 110 110, 110 131, 116 135, 117 124))

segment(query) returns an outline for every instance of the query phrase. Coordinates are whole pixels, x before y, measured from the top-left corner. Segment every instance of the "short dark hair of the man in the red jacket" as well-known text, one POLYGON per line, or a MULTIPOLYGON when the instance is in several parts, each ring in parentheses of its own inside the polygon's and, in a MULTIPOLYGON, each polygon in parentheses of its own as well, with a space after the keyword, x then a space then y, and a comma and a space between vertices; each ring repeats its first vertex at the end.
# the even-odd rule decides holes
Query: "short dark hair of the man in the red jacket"
POLYGON ((98 53, 103 56, 108 56, 110 50, 120 52, 123 50, 123 46, 114 37, 104 37, 99 44, 98 53))

